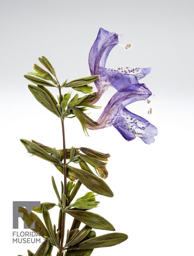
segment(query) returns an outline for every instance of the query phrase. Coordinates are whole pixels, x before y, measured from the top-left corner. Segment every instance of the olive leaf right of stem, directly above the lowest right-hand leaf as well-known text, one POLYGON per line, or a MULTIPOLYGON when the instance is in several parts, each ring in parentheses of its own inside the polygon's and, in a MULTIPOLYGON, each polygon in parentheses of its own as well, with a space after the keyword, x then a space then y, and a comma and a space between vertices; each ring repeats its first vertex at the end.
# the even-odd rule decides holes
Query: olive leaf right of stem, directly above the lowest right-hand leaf
POLYGON ((102 216, 89 211, 80 210, 66 210, 64 212, 76 218, 77 220, 85 223, 87 226, 96 229, 110 230, 114 231, 113 225, 104 219, 102 216))

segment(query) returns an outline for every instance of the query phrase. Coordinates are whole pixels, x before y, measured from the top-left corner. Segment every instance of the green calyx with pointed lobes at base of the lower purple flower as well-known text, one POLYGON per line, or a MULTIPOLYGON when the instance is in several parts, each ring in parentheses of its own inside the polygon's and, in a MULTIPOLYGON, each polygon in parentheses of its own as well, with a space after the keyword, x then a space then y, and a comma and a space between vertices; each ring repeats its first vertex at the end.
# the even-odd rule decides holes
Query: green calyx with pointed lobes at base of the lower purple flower
POLYGON ((93 121, 91 118, 89 118, 89 116, 84 114, 79 108, 73 108, 72 111, 73 111, 73 114, 80 121, 85 135, 89 136, 87 129, 86 129, 86 124, 89 124, 91 126, 98 126, 98 123, 93 121))

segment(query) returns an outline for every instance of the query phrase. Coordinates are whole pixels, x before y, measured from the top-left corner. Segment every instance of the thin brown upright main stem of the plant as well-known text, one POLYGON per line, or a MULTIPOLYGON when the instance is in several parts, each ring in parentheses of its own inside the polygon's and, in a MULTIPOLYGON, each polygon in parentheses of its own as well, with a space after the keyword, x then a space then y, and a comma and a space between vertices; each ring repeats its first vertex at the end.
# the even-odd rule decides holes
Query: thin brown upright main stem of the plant
MULTIPOLYGON (((58 80, 57 80, 58 81, 58 80)), ((59 81, 58 81, 59 84, 59 81)), ((60 102, 62 101, 61 97, 61 88, 59 84, 59 95, 60 102)), ((64 194, 67 195, 67 163, 66 163, 66 147, 65 147, 65 129, 64 129, 64 119, 61 120, 62 133, 63 133, 63 173, 64 173, 64 194)), ((62 256, 63 253, 63 241, 64 241, 64 232, 65 232, 65 212, 62 211, 62 223, 61 223, 61 241, 59 247, 59 256, 62 256)))

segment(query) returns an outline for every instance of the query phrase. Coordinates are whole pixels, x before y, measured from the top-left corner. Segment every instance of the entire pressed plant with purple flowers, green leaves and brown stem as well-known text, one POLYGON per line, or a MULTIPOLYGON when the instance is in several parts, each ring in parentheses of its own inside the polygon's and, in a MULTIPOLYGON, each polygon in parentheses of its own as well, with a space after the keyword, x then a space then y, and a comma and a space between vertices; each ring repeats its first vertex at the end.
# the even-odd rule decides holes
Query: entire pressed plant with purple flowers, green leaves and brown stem
POLYGON ((26 79, 36 84, 28 85, 36 100, 60 119, 63 148, 57 150, 34 140, 21 139, 21 142, 29 153, 51 162, 64 177, 61 182, 61 193, 59 193, 52 176, 52 185, 58 204, 45 202, 41 203, 40 207, 33 208, 33 211, 43 215, 45 225, 35 213, 29 215, 24 207, 19 207, 19 212, 23 212, 23 220, 28 227, 35 221, 35 228, 32 230, 39 232, 40 236, 45 239, 35 253, 28 250, 29 256, 49 256, 53 246, 58 248, 57 256, 89 256, 95 248, 114 246, 128 238, 126 234, 117 232, 96 236, 95 231, 92 230, 115 231, 108 220, 89 211, 98 207, 100 203, 96 201, 96 194, 113 197, 112 190, 103 180, 108 176, 106 164, 110 154, 80 145, 76 147, 71 145, 72 147, 66 148, 65 143, 65 118, 77 118, 85 135, 88 135, 87 129, 96 130, 113 125, 128 141, 140 137, 146 144, 154 142, 157 128, 125 108, 135 101, 147 100, 152 95, 145 84, 138 82, 151 69, 131 67, 106 69, 106 59, 116 44, 118 44, 118 34, 100 28, 89 54, 90 77, 70 82, 66 80, 60 84, 55 69, 44 56, 39 58, 44 68, 34 64, 35 72, 28 72, 25 75, 26 79), (93 92, 93 87, 89 86, 92 82, 95 83, 97 92, 93 92), (94 104, 109 86, 113 86, 117 92, 111 97, 99 119, 93 121, 85 114, 85 111, 88 108, 99 108, 94 104), (58 89, 57 99, 46 87, 58 89), (62 94, 64 89, 66 92, 62 94), (84 96, 80 97, 78 93, 73 95, 73 92, 69 90, 84 93, 84 96), (79 168, 71 166, 71 163, 79 164, 79 168), (69 179, 68 182, 67 179, 69 179), (75 199, 82 184, 90 191, 75 199), (49 215, 49 210, 55 206, 59 207, 57 227, 52 224, 49 215), (73 217, 71 225, 66 223, 66 214, 73 217), (81 223, 85 226, 79 229, 81 223), (65 227, 68 227, 66 233, 65 227))

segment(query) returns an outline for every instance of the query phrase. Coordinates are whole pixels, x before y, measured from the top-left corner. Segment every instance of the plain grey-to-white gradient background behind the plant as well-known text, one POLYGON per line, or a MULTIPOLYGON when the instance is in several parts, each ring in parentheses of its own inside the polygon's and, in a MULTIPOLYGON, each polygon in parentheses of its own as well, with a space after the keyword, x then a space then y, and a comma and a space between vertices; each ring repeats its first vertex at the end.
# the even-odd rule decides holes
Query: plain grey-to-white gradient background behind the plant
MULTIPOLYGON (((9 255, 27 255, 27 249, 35 253, 34 244, 12 244, 12 201, 56 202, 51 175, 58 185, 62 179, 49 163, 28 157, 19 142, 32 138, 62 147, 60 121, 36 102, 23 74, 45 55, 60 81, 90 75, 88 53, 99 27, 122 34, 120 43, 132 45, 128 50, 116 46, 107 68, 152 67, 141 82, 156 96, 149 105, 136 102, 128 109, 156 125, 159 135, 152 145, 139 138, 127 142, 109 127, 89 131, 88 138, 77 120, 66 121, 67 147, 93 147, 111 154, 107 183, 115 196, 99 196, 101 206, 94 211, 129 235, 125 243, 96 249, 92 255, 191 256, 193 1, 1 0, 1 253, 10 248, 9 255), (152 115, 147 114, 149 107, 152 115)), ((58 94, 55 88, 51 91, 58 94)), ((98 105, 104 107, 114 92, 109 88, 98 105)), ((101 111, 92 111, 91 117, 96 120, 101 111)), ((52 219, 57 211, 50 211, 52 219)), ((22 221, 19 225, 23 231, 22 221)))

